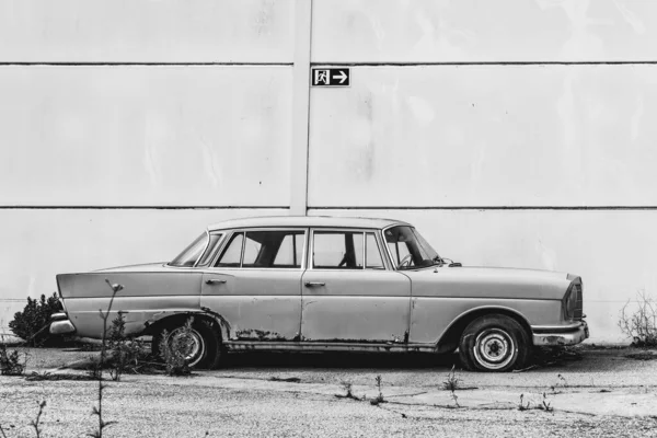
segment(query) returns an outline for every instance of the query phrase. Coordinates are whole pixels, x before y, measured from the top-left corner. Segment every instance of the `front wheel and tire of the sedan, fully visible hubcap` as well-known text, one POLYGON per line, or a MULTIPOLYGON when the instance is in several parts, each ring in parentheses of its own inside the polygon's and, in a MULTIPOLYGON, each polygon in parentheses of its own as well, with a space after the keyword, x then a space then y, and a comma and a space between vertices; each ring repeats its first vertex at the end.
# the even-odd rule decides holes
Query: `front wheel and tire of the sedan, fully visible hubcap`
POLYGON ((527 331, 502 314, 477 318, 461 335, 459 357, 470 371, 504 372, 522 368, 531 354, 527 331))

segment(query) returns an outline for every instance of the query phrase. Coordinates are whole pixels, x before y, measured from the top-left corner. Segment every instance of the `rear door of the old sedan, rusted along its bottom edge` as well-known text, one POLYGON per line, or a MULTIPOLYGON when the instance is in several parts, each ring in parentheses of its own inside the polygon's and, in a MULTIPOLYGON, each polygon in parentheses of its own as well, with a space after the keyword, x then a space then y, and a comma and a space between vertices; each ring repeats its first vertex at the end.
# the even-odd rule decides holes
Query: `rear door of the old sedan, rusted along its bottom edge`
POLYGON ((200 306, 230 325, 227 342, 300 336, 304 229, 234 230, 203 275, 200 306))

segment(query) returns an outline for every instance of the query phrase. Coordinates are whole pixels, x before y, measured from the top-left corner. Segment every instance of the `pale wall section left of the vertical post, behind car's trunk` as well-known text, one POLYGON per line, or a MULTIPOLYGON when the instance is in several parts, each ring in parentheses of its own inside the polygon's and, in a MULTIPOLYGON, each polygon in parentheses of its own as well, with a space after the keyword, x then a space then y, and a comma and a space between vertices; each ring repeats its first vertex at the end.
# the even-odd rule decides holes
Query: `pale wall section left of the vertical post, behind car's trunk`
POLYGON ((288 212, 293 5, 0 0, 0 333, 57 273, 288 212))

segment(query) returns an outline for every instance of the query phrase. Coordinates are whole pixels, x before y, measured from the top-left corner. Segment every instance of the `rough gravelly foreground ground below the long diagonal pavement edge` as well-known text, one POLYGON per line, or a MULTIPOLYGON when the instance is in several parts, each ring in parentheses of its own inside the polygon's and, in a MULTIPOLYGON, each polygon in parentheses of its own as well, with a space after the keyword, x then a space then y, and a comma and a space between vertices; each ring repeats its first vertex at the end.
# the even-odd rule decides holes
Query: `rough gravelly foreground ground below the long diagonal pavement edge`
MULTIPOLYGON (((90 412, 95 390, 94 382, 3 381, 2 425, 8 437, 34 436, 28 424, 37 401, 46 399, 43 436, 83 436, 94 427, 90 412)), ((330 394, 188 385, 184 379, 176 384, 131 379, 108 383, 105 396, 105 419, 118 422, 110 426, 107 437, 203 437, 206 431, 218 437, 657 436, 653 418, 396 403, 372 406, 330 394)))

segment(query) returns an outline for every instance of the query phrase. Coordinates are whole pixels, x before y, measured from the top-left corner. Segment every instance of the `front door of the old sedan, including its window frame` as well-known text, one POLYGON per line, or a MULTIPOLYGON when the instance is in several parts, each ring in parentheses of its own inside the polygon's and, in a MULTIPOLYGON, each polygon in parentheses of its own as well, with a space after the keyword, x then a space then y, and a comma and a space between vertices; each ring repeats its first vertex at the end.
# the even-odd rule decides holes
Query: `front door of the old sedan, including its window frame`
POLYGON ((411 280, 385 266, 378 231, 314 229, 311 235, 302 341, 406 343, 411 280))

